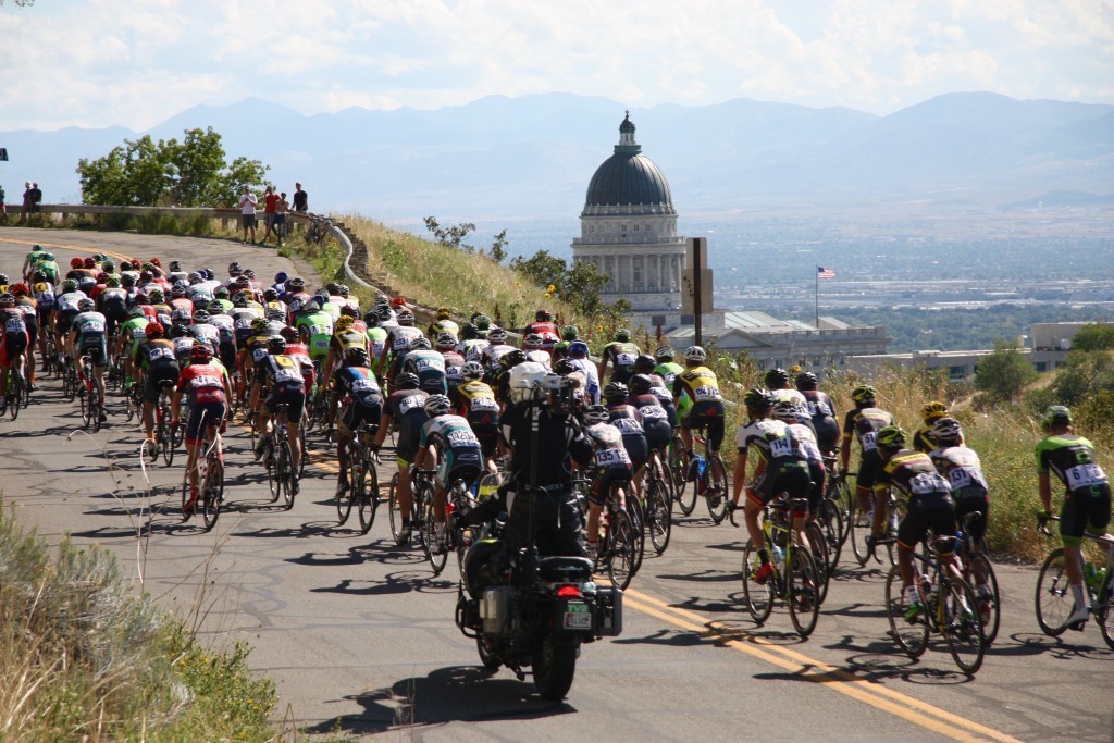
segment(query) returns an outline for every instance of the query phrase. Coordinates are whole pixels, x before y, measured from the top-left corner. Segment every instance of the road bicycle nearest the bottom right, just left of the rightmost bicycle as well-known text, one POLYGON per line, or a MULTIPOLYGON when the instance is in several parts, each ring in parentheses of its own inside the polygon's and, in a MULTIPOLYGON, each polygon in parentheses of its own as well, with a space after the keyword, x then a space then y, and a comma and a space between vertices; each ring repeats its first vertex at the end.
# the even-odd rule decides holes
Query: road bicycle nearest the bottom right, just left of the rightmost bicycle
POLYGON ((956 665, 966 674, 974 674, 983 665, 986 636, 983 620, 976 610, 975 593, 956 569, 945 568, 945 556, 958 547, 959 538, 935 537, 928 542, 930 550, 912 553, 913 585, 917 586, 921 608, 909 616, 901 574, 895 565, 886 576, 886 614, 890 635, 911 658, 918 658, 928 647, 931 633, 939 633, 948 644, 948 652, 956 665), (922 566, 922 568, 921 568, 922 566))

